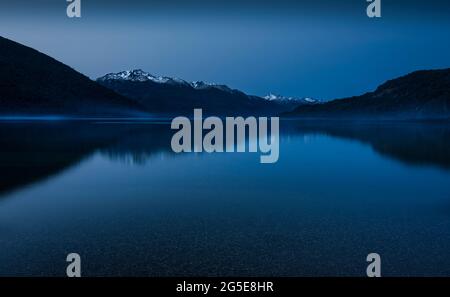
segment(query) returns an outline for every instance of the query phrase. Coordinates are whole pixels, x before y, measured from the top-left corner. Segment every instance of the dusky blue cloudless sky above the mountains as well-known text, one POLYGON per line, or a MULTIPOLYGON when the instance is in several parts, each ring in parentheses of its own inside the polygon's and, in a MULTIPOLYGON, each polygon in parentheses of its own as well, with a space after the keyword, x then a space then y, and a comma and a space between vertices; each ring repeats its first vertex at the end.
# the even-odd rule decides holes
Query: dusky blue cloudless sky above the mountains
POLYGON ((450 1, 0 1, 0 35, 96 78, 155 75, 322 99, 358 95, 418 69, 450 67, 450 1), (395 4, 394 4, 395 2, 395 4))

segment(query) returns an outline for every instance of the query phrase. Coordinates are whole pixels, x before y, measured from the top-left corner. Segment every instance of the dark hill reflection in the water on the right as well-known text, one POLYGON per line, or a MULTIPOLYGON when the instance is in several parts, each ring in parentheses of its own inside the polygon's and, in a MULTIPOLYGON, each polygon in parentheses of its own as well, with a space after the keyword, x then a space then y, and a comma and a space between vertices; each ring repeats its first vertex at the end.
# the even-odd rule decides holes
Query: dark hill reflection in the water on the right
POLYGON ((450 126, 448 124, 291 122, 289 131, 296 134, 326 134, 359 140, 373 149, 410 165, 435 165, 450 169, 450 126))

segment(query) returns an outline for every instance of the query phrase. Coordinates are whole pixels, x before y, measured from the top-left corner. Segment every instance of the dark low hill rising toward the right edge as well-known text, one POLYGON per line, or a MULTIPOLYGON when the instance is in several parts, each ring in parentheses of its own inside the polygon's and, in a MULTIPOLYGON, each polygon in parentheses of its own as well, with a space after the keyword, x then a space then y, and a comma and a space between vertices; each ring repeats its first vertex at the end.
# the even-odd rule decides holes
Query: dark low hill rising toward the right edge
POLYGON ((450 119, 450 69, 412 72, 385 82, 373 92, 299 106, 283 116, 308 119, 450 119))

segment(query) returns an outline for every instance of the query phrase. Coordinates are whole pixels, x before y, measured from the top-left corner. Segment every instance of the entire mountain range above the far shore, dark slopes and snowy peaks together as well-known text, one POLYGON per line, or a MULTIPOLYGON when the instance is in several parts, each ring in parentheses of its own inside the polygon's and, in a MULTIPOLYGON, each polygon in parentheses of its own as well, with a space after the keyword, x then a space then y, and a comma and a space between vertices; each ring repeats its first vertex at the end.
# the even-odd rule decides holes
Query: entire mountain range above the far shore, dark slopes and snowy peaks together
POLYGON ((450 119, 450 69, 422 70, 375 91, 328 102, 247 95, 226 85, 143 70, 96 81, 34 49, 0 37, 0 116, 148 117, 283 115, 303 119, 450 119))

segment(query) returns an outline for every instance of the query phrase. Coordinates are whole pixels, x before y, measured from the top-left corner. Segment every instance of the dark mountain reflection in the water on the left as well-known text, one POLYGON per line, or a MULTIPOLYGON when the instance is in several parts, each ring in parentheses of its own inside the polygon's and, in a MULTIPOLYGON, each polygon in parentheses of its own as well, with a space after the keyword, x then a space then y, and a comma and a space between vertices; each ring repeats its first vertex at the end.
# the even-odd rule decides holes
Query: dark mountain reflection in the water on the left
POLYGON ((0 193, 58 174, 99 149, 117 147, 116 151, 123 154, 130 150, 156 151, 163 142, 170 144, 170 138, 160 137, 158 131, 162 129, 158 126, 74 122, 0 124, 0 193), (137 133, 140 130, 145 130, 148 133, 145 136, 149 137, 137 133), (135 146, 133 139, 141 138, 145 145, 135 146))

